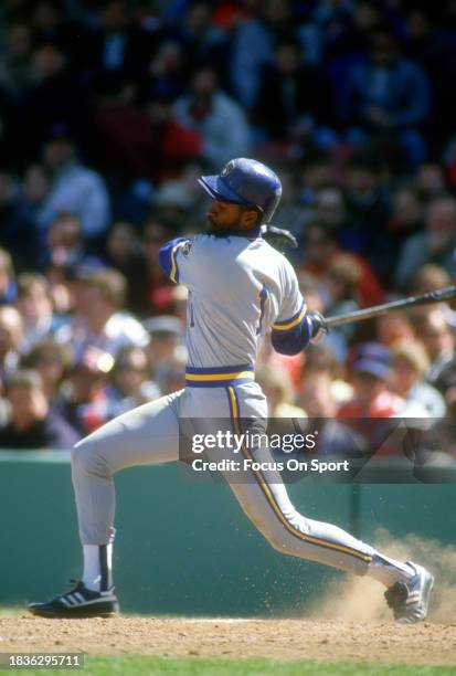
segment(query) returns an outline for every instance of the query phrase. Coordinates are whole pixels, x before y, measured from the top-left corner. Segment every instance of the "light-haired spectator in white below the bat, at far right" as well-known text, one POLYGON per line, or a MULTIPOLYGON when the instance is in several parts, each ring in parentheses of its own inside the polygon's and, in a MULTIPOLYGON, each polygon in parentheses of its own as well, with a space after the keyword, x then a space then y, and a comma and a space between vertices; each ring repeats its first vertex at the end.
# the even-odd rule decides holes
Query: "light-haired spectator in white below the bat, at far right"
POLYGON ((424 406, 430 418, 444 418, 446 404, 442 394, 424 381, 430 368, 426 352, 420 342, 399 342, 391 350, 393 391, 409 402, 424 406))

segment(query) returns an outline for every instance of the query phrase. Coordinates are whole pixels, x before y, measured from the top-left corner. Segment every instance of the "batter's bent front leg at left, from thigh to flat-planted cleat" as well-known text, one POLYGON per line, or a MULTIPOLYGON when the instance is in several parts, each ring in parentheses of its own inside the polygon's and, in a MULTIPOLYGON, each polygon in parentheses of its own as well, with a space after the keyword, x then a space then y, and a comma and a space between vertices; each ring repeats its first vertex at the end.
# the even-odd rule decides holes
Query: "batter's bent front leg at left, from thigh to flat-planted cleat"
POLYGON ((112 574, 113 477, 126 467, 178 458, 178 401, 183 394, 177 392, 124 413, 75 445, 72 476, 83 545, 82 584, 50 603, 32 604, 32 612, 83 616, 117 610, 112 574))

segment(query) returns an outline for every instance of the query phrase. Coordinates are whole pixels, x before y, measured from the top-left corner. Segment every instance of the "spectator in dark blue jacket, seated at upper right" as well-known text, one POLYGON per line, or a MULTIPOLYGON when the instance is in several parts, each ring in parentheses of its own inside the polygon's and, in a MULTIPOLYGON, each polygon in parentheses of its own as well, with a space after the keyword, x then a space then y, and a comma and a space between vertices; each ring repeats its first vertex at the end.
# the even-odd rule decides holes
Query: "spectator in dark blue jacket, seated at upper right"
POLYGON ((338 108, 344 124, 358 125, 352 137, 397 137, 411 167, 426 159, 422 129, 431 113, 430 82, 416 63, 402 56, 389 27, 372 31, 370 56, 349 68, 338 108))

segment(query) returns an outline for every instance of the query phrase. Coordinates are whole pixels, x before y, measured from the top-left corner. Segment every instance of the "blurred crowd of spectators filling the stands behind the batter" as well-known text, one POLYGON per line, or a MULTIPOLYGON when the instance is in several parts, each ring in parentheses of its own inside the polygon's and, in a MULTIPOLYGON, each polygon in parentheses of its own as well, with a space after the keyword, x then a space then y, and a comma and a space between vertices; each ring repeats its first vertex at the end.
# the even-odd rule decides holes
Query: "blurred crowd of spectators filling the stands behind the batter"
MULTIPOLYGON (((310 309, 452 284, 455 80, 453 0, 3 0, 0 446, 67 448, 183 385, 158 251, 204 230, 197 178, 233 157, 280 176, 310 309)), ((456 310, 296 357, 266 336, 257 380, 277 418, 450 418, 456 310)))

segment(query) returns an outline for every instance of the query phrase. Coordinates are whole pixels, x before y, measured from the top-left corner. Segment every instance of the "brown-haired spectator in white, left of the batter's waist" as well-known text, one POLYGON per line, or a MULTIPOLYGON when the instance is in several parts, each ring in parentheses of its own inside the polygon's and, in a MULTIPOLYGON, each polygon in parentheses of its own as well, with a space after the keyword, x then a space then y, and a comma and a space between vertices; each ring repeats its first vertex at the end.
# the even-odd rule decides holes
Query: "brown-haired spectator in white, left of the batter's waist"
POLYGON ((76 361, 88 347, 96 347, 116 358, 126 346, 146 347, 146 330, 124 311, 127 282, 115 270, 79 267, 75 279, 75 317, 61 327, 55 339, 72 348, 76 361))

